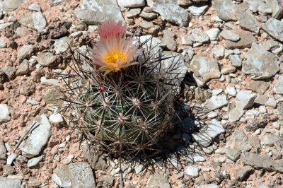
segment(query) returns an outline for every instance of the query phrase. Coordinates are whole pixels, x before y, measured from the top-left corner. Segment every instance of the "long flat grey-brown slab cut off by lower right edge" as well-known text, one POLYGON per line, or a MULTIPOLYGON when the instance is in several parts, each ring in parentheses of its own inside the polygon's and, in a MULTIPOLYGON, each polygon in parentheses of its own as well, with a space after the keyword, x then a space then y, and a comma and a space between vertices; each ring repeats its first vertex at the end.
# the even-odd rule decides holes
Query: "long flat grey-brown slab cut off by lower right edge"
POLYGON ((270 155, 258 155, 244 151, 241 160, 256 169, 283 172, 283 160, 273 160, 270 155))

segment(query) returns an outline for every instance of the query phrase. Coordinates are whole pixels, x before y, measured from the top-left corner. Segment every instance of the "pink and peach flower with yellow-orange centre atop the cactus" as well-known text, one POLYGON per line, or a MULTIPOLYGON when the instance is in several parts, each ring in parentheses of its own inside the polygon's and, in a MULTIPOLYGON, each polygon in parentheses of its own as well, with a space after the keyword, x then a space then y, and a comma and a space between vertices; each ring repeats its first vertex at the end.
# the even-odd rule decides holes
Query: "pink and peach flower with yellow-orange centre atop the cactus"
POLYGON ((99 71, 108 74, 138 64, 133 61, 142 49, 137 45, 138 40, 125 37, 125 31, 126 26, 122 26, 121 21, 115 23, 111 20, 99 25, 100 42, 90 49, 92 63, 99 67, 99 71))

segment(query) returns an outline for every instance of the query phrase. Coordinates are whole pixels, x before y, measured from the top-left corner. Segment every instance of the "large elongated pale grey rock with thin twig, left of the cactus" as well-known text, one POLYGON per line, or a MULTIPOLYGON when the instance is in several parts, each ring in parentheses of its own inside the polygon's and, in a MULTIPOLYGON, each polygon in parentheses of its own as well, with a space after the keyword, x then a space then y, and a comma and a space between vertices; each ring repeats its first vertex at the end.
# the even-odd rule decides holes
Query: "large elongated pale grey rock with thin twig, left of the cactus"
MULTIPOLYGON (((27 158, 33 158, 38 155, 43 146, 47 143, 51 134, 51 124, 45 114, 37 115, 33 119, 33 123, 36 127, 33 132, 28 136, 28 139, 24 140, 19 148, 21 148, 22 155, 27 158)), ((30 126, 32 125, 30 124, 30 126)))

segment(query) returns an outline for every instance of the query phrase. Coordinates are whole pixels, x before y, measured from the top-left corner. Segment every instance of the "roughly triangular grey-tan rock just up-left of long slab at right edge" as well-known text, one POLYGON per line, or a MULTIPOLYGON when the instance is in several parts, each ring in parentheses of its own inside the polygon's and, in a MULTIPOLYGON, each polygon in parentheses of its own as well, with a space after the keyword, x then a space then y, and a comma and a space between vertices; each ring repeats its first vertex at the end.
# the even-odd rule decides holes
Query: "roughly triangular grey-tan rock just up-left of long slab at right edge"
POLYGON ((241 129, 237 129, 232 136, 227 139, 225 148, 239 148, 241 151, 249 151, 251 149, 248 144, 248 136, 241 129))

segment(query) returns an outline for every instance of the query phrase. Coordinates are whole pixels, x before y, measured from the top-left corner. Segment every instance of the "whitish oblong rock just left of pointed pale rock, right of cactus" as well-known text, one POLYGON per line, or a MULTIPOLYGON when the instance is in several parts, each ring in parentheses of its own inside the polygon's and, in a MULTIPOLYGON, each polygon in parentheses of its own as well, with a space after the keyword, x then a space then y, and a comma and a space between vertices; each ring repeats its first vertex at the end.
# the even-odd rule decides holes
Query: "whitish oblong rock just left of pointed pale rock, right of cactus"
POLYGON ((204 102, 204 109, 207 111, 216 110, 228 104, 226 95, 213 95, 207 102, 204 102))

